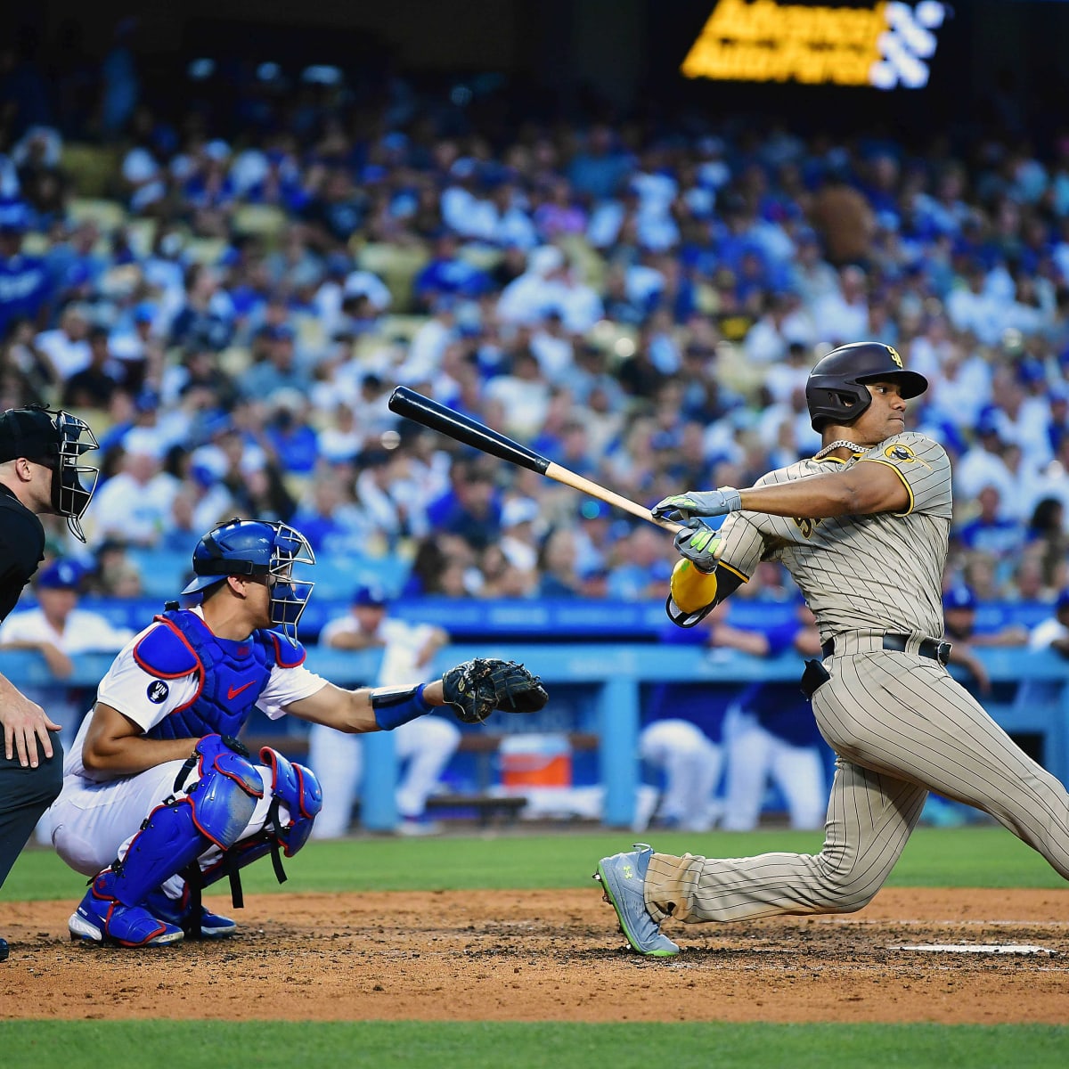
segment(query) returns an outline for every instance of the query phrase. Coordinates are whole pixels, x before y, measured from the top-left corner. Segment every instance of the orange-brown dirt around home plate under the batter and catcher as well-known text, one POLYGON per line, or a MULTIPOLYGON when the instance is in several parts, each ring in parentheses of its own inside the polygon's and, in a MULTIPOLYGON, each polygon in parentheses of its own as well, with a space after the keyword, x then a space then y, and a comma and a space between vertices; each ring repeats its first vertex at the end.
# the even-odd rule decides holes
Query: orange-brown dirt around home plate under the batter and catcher
POLYGON ((593 883, 250 896, 234 939, 158 950, 72 944, 69 909, 0 905, 0 1019, 1069 1022, 1060 888, 885 888, 851 916, 669 924, 684 949, 668 961, 624 948, 593 883), (1043 952, 900 949, 918 944, 1043 952))

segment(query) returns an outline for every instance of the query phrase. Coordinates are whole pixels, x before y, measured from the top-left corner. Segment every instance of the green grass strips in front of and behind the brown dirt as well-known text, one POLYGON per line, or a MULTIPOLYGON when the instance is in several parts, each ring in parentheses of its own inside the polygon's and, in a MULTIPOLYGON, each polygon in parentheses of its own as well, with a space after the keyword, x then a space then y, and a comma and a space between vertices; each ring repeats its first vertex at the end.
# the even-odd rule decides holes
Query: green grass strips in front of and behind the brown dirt
MULTIPOLYGON (((366 838, 311 843, 286 863, 279 888, 270 866, 246 870, 248 892, 433 890, 575 887, 590 882, 598 858, 625 849, 629 833, 495 834, 408 840, 366 838)), ((750 835, 656 834, 669 852, 742 856, 772 850, 814 851, 820 837, 780 831, 750 835)), ((897 886, 1059 887, 1045 862, 996 827, 920 830, 888 883, 897 886)), ((47 851, 28 850, 0 890, 3 902, 63 899, 73 903, 81 878, 47 851)), ((13 959, 0 977, 17 970, 13 959)), ((234 982, 241 982, 239 964, 234 982)), ((0 1002, 0 1016, 2 1016, 0 1002)), ((167 1008, 161 1007, 161 1013, 167 1008)), ((1069 1028, 935 1025, 601 1024, 545 1022, 281 1023, 269 1006, 249 1006, 250 1020, 100 1022, 0 1021, 0 1067, 152 1069, 155 1066, 688 1066, 1064 1067, 1069 1028)), ((1067 1007, 1069 1018, 1069 1007, 1067 1007)))

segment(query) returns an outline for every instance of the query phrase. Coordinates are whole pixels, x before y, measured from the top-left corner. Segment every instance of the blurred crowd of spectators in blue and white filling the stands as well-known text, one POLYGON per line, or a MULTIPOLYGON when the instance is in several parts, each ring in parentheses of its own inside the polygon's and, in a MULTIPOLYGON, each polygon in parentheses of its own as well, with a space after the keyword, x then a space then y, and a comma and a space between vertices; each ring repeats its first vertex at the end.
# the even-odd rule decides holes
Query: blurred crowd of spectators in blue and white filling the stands
POLYGON ((11 99, 0 400, 97 429, 98 592, 137 593, 140 551, 187 562, 243 514, 321 559, 396 561, 391 593, 660 600, 670 539, 398 420, 391 389, 649 503, 811 454, 808 370, 867 338, 931 383, 910 422, 955 465, 947 587, 1069 585, 1067 134, 491 138, 343 81, 261 87, 216 128, 133 93, 96 130, 114 166, 87 198, 69 113, 11 99))

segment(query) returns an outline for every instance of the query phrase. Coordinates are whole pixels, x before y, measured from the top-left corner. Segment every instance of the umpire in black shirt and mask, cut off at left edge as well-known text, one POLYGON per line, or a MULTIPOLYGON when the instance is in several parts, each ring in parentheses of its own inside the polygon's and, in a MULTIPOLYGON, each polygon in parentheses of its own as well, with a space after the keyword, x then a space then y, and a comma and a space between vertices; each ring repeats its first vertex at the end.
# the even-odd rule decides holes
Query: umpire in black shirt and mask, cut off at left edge
MULTIPOLYGON (((89 427, 65 412, 9 408, 0 415, 0 620, 15 607, 44 558, 42 513, 79 521, 96 487, 97 469, 81 464, 96 448, 89 427)), ((0 675, 0 886, 41 815, 63 786, 59 725, 0 675), (40 745, 38 745, 40 744, 40 745)), ((7 944, 0 939, 0 961, 7 944)))

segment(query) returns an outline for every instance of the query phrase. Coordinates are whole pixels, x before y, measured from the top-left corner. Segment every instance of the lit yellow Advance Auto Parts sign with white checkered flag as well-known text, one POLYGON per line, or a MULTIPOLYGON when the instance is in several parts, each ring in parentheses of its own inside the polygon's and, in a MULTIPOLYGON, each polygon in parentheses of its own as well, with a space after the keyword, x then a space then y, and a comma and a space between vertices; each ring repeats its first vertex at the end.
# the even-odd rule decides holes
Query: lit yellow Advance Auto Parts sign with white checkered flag
POLYGON ((864 7, 718 0, 680 69, 718 81, 920 89, 946 15, 936 0, 864 7))

